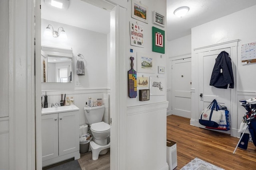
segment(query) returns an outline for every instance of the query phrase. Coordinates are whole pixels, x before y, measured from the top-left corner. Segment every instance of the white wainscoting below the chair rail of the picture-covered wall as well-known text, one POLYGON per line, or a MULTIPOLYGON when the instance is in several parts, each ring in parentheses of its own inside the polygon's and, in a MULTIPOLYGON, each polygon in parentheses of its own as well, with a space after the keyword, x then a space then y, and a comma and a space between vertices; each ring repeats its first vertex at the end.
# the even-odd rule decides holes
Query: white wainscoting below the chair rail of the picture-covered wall
POLYGON ((127 110, 126 169, 166 166, 166 108, 168 102, 130 106, 127 110), (154 155, 154 161, 152 161, 154 155))

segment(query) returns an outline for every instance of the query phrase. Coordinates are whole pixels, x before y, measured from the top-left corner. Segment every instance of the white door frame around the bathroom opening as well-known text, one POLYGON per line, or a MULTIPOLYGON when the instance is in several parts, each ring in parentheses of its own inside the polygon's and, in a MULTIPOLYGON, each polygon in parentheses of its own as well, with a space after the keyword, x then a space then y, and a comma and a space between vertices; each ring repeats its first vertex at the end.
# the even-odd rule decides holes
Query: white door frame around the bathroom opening
MULTIPOLYGON (((104 0, 101 0, 103 3, 104 0)), ((93 4, 93 0, 86 0, 88 3, 93 4)), ((40 11, 40 0, 35 0, 35 93, 36 93, 36 109, 35 109, 35 119, 36 119, 36 169, 42 169, 42 138, 41 138, 41 11, 40 11), (40 17, 37 17, 40 16, 40 17)), ((123 69, 125 65, 125 45, 126 45, 126 8, 119 6, 118 4, 113 4, 115 6, 110 11, 110 118, 111 123, 111 143, 110 143, 110 169, 118 170, 125 169, 125 132, 126 132, 126 86, 123 86, 125 78, 123 75, 126 74, 123 69), (122 114, 120 114, 122 113, 122 114)), ((96 4, 93 4, 96 5, 96 4)))

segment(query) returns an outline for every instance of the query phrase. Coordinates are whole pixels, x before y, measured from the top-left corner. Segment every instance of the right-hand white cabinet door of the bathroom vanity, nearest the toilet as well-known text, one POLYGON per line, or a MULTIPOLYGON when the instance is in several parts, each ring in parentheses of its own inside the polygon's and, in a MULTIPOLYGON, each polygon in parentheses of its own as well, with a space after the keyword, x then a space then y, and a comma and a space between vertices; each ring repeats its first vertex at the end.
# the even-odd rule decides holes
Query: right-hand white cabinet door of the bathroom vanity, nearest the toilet
POLYGON ((78 111, 59 113, 59 156, 79 150, 78 111))

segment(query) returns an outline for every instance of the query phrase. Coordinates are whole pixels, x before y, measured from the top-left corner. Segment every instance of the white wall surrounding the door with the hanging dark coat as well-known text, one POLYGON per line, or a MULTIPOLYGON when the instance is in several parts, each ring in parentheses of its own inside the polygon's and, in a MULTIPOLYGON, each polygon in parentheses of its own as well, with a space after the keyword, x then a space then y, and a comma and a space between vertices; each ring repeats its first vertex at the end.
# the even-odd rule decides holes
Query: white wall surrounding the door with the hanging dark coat
MULTIPOLYGON (((241 64, 241 45, 256 41, 255 18, 256 6, 252 6, 250 8, 192 28, 192 51, 193 49, 199 47, 206 47, 209 45, 239 39, 237 63, 233 63, 232 65, 236 68, 236 73, 234 74, 236 74, 235 90, 237 100, 248 98, 249 96, 256 96, 256 79, 252 78, 252 74, 249 74, 250 72, 256 71, 256 64, 241 64)), ((196 55, 192 52, 192 66, 196 65, 196 63, 194 63, 196 60, 193 59, 195 56, 196 55)), ((192 82, 197 82, 197 73, 194 72, 193 69, 196 68, 192 67, 192 82)), ((198 84, 192 83, 192 88, 196 89, 195 96, 198 96, 198 84)), ((198 100, 198 98, 196 97, 192 100, 198 100)), ((232 104, 235 108, 233 109, 233 113, 231 113, 234 120, 232 122, 232 128, 235 129, 239 128, 238 125, 240 125, 242 115, 245 113, 245 110, 241 110, 241 106, 239 106, 238 103, 239 102, 234 102, 232 104), (237 110, 239 113, 237 113, 237 110), (240 111, 242 113, 240 113, 240 111)), ((197 114, 198 110, 196 110, 196 108, 192 110, 193 118, 198 117, 197 114)), ((234 134, 234 136, 239 136, 239 134, 234 134)))

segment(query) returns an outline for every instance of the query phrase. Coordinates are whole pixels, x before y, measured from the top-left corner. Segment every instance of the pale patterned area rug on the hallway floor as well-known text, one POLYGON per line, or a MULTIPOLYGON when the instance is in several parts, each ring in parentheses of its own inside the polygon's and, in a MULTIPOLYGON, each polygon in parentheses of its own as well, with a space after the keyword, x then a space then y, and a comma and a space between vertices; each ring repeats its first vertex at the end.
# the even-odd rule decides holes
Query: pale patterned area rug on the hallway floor
POLYGON ((194 158, 194 160, 186 164, 180 170, 224 170, 224 169, 219 168, 218 166, 215 166, 208 162, 205 162, 204 160, 201 160, 199 158, 194 158))

